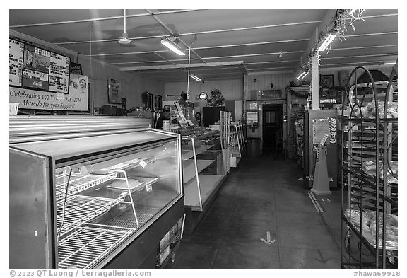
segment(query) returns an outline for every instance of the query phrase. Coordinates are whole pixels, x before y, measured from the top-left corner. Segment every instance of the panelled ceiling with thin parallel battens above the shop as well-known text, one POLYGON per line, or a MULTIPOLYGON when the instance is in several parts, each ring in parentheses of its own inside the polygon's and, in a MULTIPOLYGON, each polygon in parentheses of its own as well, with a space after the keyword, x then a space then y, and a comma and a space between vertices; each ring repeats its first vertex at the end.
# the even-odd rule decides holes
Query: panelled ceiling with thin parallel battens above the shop
MULTIPOLYGON (((9 28, 122 71, 162 82, 240 79, 244 73, 296 71, 329 10, 9 10, 9 28), (126 33, 131 45, 117 43, 126 33), (161 45, 175 35, 185 56, 161 45), (189 59, 189 47, 191 50, 189 59)), ((321 67, 395 62, 398 11, 370 10, 322 52, 321 67)))

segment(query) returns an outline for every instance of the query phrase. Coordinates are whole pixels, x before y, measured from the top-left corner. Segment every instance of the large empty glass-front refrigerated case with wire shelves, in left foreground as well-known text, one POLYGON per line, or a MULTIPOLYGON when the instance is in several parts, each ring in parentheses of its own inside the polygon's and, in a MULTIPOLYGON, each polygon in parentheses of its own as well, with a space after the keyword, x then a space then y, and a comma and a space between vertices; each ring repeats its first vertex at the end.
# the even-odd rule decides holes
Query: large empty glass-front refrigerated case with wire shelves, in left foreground
MULTIPOLYGON (((59 132, 66 128, 51 117, 59 132)), ((182 231, 179 135, 112 122, 105 132, 92 125, 85 132, 83 125, 76 133, 45 135, 41 119, 11 119, 10 267, 158 266, 156 257, 168 255, 160 241, 175 224, 172 239, 182 231), (28 122, 30 136, 23 136, 28 122)))

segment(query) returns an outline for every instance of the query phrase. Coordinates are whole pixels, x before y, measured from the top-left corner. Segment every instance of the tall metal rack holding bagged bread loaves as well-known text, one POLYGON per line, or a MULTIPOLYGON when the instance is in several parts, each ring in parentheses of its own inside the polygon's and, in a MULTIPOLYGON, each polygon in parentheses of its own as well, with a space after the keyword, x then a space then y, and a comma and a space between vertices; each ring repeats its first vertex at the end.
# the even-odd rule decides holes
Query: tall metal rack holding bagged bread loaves
POLYGON ((343 268, 398 267, 398 185, 396 166, 392 166, 398 158, 398 119, 390 108, 394 100, 391 81, 396 74, 397 64, 388 83, 375 83, 370 71, 357 66, 343 95, 343 268), (360 71, 367 73, 370 82, 350 86, 351 80, 357 83, 355 76, 360 71), (385 88, 385 93, 377 93, 377 87, 385 88), (350 108, 348 112, 345 105, 350 108))

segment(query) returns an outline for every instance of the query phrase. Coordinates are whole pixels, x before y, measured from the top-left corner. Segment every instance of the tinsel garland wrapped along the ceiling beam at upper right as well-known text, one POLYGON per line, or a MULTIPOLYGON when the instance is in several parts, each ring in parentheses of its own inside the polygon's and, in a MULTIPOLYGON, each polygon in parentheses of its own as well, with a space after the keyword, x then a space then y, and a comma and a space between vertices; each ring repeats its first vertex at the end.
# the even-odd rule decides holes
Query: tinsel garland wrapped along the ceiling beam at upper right
MULTIPOLYGON (((352 27, 352 29, 355 31, 355 26, 353 23, 355 21, 365 21, 362 18, 362 13, 365 11, 365 9, 338 9, 336 10, 334 18, 332 18, 331 23, 326 27, 325 30, 323 30, 321 33, 318 35, 318 40, 315 46, 312 48, 311 51, 309 51, 308 54, 308 59, 306 64, 300 66, 303 71, 309 71, 312 69, 312 59, 315 57, 317 58, 317 62, 319 64, 319 51, 318 48, 319 46, 322 45, 322 43, 330 36, 330 35, 335 35, 334 40, 346 40, 344 37, 344 33, 348 30, 347 26, 352 27)), ((327 47, 327 52, 331 49, 331 43, 327 47)))

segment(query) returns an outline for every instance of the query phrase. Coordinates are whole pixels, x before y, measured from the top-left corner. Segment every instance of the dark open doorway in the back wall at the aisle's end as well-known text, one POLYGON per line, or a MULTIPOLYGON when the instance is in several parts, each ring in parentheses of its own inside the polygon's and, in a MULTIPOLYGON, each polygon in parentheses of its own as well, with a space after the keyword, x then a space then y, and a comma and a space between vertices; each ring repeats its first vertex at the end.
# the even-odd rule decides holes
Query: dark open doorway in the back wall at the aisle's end
POLYGON ((283 104, 263 105, 263 152, 275 154, 278 133, 283 134, 283 104))

